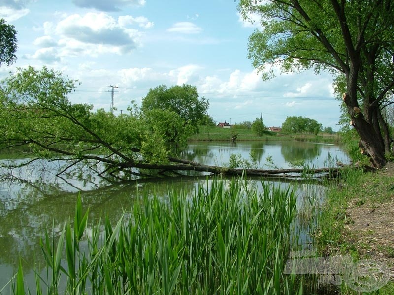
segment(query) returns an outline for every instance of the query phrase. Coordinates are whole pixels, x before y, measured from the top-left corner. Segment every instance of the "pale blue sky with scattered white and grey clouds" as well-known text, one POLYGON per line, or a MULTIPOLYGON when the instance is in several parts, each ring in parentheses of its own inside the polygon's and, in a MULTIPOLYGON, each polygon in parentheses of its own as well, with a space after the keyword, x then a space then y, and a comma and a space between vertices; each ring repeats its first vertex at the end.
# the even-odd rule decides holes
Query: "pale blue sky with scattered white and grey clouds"
MULTIPOLYGON (((248 59, 258 23, 242 20, 237 0, 0 0, 0 18, 15 26, 17 61, 0 68, 46 66, 78 80, 73 103, 115 115, 149 89, 190 84, 209 101, 216 123, 281 126, 288 116, 339 129, 339 101, 328 73, 281 73, 263 81, 248 59)), ((270 66, 270 65, 268 65, 270 66)))

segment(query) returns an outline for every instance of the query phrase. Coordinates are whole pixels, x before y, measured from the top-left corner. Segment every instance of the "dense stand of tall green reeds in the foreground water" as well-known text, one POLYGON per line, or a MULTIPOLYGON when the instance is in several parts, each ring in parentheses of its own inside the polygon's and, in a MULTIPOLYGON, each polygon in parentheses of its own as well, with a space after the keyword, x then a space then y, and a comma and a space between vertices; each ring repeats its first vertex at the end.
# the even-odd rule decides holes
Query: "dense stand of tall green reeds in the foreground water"
MULTIPOLYGON (((114 226, 106 218, 90 236, 79 198, 73 226, 64 226, 57 243, 45 235, 48 275, 37 270, 34 287, 49 294, 300 294, 295 276, 283 274, 296 193, 262 185, 258 193, 246 180, 214 180, 192 196, 144 195, 130 218, 114 226)), ((14 293, 25 287, 20 266, 14 293)))

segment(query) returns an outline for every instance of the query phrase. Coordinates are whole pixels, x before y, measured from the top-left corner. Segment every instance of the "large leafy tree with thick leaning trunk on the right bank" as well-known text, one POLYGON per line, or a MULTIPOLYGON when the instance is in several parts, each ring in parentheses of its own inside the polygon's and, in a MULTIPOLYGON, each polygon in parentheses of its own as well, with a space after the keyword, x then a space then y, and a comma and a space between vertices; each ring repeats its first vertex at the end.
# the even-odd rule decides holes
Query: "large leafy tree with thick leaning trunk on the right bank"
POLYGON ((261 16, 249 58, 263 77, 272 76, 267 63, 330 71, 371 165, 382 167, 390 142, 381 110, 394 91, 393 1, 240 0, 239 9, 246 19, 261 16))

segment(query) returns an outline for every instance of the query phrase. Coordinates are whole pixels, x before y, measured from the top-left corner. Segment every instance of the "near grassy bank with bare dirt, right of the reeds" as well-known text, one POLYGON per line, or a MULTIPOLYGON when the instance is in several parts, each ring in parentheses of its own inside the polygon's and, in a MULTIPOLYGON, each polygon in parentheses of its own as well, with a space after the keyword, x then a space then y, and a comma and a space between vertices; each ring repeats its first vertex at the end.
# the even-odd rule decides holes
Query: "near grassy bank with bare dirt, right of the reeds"
POLYGON ((381 288, 368 294, 394 294, 393 172, 393 163, 374 173, 348 169, 339 183, 331 184, 328 189, 316 232, 319 252, 329 256, 349 254, 356 263, 377 262, 382 270, 376 276, 377 282, 359 278, 353 288, 342 283, 340 294, 361 294, 354 289, 365 291, 374 285, 381 288), (385 275, 391 276, 391 281, 380 286, 385 275))

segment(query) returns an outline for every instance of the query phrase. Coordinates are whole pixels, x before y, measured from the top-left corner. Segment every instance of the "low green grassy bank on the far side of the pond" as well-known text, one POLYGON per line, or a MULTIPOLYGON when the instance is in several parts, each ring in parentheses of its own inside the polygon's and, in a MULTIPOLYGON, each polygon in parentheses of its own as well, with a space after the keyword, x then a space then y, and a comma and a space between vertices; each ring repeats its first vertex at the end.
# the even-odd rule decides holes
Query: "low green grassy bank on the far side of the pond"
POLYGON ((319 143, 339 143, 336 134, 284 134, 266 131, 263 136, 256 135, 251 129, 228 129, 216 126, 200 126, 199 133, 189 137, 189 141, 230 141, 233 133, 237 133, 237 141, 263 141, 263 140, 296 140, 319 143))

